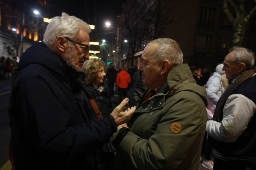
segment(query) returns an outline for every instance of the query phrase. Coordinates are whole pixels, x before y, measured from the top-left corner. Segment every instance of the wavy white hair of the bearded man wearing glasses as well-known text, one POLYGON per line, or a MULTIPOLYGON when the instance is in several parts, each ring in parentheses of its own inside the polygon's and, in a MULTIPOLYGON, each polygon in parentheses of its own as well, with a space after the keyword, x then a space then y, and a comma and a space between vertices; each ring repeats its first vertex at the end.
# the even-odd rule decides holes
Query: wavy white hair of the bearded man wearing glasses
POLYGON ((90 26, 83 20, 75 16, 69 16, 62 13, 61 16, 55 16, 47 25, 43 41, 47 46, 54 45, 56 37, 64 36, 76 40, 76 33, 79 28, 84 28, 88 33, 91 33, 90 26))

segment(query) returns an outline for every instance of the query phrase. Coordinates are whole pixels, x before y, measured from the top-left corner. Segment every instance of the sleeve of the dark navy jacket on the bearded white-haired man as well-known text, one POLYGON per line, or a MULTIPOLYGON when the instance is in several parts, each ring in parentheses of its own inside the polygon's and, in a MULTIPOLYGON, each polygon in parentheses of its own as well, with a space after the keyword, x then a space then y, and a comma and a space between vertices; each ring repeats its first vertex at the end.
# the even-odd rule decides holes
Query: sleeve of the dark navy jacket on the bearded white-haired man
POLYGON ((48 159, 59 163, 72 162, 77 156, 85 155, 88 149, 108 143, 117 130, 112 116, 69 126, 72 113, 67 112, 54 96, 46 81, 39 75, 26 75, 22 79, 21 112, 35 123, 39 150, 48 159))

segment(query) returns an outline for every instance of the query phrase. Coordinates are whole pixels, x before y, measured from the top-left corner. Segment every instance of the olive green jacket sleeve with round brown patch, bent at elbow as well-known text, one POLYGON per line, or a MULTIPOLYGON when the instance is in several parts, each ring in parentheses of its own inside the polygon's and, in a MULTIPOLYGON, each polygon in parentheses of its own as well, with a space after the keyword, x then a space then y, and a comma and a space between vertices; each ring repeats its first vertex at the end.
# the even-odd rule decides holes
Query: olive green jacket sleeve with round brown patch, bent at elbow
POLYGON ((115 133, 113 144, 117 148, 116 166, 127 165, 137 170, 182 169, 179 166, 182 166, 182 160, 186 159, 187 153, 200 147, 205 128, 202 124, 202 113, 197 103, 191 99, 180 99, 166 110, 155 134, 148 140, 132 132, 124 137, 118 135, 122 128, 115 133), (171 125, 175 122, 181 125, 179 133, 171 131, 171 125), (123 138, 120 140, 118 137, 123 138), (196 141, 199 141, 197 146, 194 145, 196 141))

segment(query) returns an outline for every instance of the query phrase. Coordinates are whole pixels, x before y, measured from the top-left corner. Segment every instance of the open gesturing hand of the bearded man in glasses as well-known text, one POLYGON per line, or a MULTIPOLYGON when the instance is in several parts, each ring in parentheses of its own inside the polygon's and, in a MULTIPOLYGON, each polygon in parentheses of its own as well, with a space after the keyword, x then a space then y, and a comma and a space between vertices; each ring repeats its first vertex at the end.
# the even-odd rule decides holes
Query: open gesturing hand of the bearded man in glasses
POLYGON ((111 113, 111 116, 113 116, 113 118, 115 119, 115 123, 117 123, 117 126, 130 120, 130 118, 132 117, 132 115, 134 114, 134 112, 136 110, 136 107, 132 107, 131 109, 128 108, 124 112, 122 111, 122 109, 124 109, 124 107, 127 105, 128 101, 129 101, 129 99, 125 98, 120 103, 120 105, 118 105, 111 113))

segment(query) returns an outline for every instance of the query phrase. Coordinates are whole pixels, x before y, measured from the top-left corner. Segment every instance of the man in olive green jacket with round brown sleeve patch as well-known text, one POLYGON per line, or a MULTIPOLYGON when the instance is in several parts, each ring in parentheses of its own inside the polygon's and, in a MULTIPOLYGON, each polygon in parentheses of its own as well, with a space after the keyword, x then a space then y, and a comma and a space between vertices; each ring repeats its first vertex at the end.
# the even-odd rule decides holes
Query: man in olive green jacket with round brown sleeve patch
POLYGON ((115 169, 198 170, 206 89, 182 65, 183 54, 174 40, 148 43, 141 61, 138 71, 149 89, 130 119, 130 129, 121 125, 113 136, 115 169))

